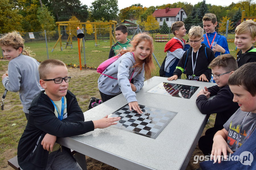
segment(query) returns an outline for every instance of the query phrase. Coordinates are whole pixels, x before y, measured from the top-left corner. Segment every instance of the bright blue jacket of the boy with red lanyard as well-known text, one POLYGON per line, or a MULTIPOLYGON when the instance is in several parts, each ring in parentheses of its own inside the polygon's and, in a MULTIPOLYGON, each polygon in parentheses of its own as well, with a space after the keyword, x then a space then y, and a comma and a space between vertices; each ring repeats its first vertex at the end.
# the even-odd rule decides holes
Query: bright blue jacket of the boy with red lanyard
MULTIPOLYGON (((210 44, 212 43, 212 39, 213 39, 215 33, 217 33, 217 32, 215 31, 214 33, 208 33, 207 34, 207 37, 209 39, 210 44)), ((206 39, 206 34, 204 34, 203 37, 204 37, 204 41, 202 41, 202 43, 204 43, 207 47, 210 48, 210 46, 208 44, 208 41, 206 39)), ((212 46, 215 46, 216 44, 222 46, 226 50, 224 54, 230 54, 226 37, 217 33, 217 35, 216 35, 216 37, 215 37, 215 39, 212 43, 212 46)), ((211 49, 212 49, 212 47, 211 47, 211 49)), ((220 52, 216 52, 214 55, 215 55, 215 57, 217 57, 221 54, 220 54, 220 52)))

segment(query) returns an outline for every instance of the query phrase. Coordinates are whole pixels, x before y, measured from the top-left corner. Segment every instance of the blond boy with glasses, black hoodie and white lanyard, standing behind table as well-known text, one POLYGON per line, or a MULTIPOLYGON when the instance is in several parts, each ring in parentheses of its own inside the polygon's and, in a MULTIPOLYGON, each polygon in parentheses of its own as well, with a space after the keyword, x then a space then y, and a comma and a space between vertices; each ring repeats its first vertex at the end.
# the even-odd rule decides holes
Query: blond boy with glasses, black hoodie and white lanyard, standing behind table
POLYGON ((192 26, 188 35, 191 47, 179 60, 173 76, 167 80, 177 80, 184 72, 187 80, 208 82, 211 78, 211 69, 208 65, 215 58, 214 53, 205 44, 201 44, 204 40, 204 30, 201 27, 192 26))

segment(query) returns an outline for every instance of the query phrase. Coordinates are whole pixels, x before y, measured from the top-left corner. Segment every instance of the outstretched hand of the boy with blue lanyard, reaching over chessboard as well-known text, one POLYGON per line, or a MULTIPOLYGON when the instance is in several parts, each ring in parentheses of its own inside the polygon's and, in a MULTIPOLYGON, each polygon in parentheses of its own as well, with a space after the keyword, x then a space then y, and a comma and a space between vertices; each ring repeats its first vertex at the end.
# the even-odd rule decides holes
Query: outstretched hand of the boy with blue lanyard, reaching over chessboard
POLYGON ((108 126, 115 125, 117 124, 116 121, 119 121, 121 118, 120 117, 111 117, 108 118, 108 115, 106 115, 104 118, 100 120, 93 120, 94 124, 94 129, 100 128, 107 128, 108 126))

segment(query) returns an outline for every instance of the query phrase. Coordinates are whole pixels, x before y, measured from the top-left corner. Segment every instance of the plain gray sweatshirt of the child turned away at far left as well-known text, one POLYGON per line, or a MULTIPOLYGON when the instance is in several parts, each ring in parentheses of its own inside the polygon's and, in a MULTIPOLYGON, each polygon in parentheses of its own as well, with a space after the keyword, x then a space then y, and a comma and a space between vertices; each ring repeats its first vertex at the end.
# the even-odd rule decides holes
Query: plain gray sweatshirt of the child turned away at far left
POLYGON ((8 77, 2 80, 7 90, 19 92, 24 113, 28 113, 34 97, 44 90, 39 84, 39 64, 36 59, 21 54, 9 62, 8 77))

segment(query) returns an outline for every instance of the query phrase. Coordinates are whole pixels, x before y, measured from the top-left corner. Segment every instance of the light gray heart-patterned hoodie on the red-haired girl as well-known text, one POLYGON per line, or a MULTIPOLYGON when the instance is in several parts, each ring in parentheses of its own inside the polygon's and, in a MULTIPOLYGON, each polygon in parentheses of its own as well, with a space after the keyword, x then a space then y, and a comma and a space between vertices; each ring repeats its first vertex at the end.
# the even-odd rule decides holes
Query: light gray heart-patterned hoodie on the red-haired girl
POLYGON ((107 95, 118 95, 122 92, 128 103, 137 101, 136 94, 132 91, 129 80, 131 77, 134 78, 136 92, 140 91, 144 86, 144 65, 142 71, 139 71, 139 68, 135 68, 134 71, 134 68, 132 68, 134 63, 133 53, 128 52, 110 64, 103 71, 103 74, 117 78, 117 80, 101 75, 98 79, 99 90, 107 95))

